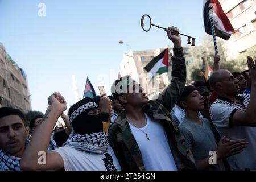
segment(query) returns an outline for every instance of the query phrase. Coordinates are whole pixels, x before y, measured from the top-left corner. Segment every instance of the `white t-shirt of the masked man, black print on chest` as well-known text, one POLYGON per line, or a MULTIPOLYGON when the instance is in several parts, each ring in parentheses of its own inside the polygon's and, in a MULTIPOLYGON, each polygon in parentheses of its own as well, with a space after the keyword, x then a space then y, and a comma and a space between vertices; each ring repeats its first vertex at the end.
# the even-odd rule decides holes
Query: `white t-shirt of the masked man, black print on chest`
POLYGON ((81 152, 64 146, 53 150, 60 154, 64 161, 65 171, 120 171, 121 167, 109 146, 104 154, 81 152))

